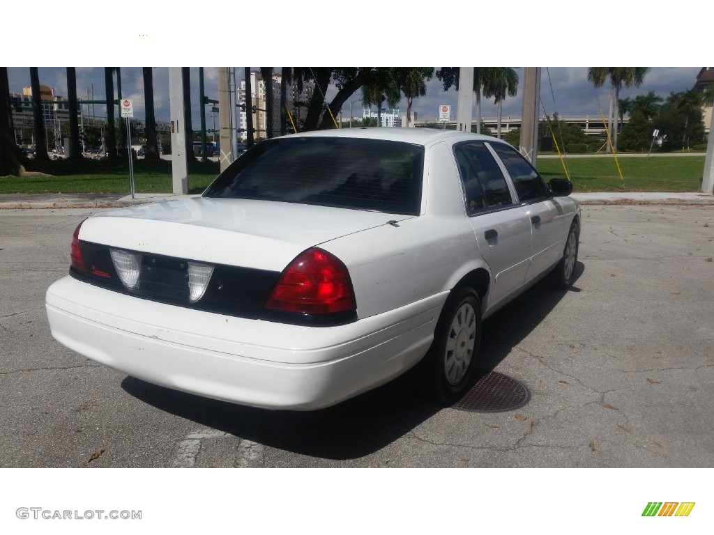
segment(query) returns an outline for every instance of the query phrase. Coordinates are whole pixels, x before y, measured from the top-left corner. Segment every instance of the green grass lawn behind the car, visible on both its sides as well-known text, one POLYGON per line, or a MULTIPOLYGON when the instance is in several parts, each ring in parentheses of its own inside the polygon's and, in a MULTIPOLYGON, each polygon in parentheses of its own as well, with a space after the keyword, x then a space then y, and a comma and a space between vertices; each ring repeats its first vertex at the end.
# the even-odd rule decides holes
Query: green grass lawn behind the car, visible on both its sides
MULTIPOLYGON (((699 191, 704 170, 702 156, 618 157, 623 180, 615 160, 568 158, 575 191, 699 191)), ((538 158, 538 171, 545 180, 564 178, 558 158, 538 158)), ((0 177, 0 193, 126 193, 129 194, 127 162, 89 160, 49 163, 49 176, 0 177)), ((217 162, 189 162, 188 188, 201 193, 216 178, 217 162)), ((140 160, 134 165, 137 193, 170 193, 171 161, 140 160)))

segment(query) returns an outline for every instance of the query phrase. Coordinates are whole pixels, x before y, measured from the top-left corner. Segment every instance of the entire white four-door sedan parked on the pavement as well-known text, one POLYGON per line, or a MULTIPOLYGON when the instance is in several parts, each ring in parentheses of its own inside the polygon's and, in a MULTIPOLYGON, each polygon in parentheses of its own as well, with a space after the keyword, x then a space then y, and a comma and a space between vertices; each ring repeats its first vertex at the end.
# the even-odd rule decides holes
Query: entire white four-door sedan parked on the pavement
POLYGON ((420 128, 258 143, 200 197, 99 213, 46 295, 52 335, 148 382, 318 409, 421 362, 473 384, 481 321, 573 282, 580 208, 516 149, 420 128))

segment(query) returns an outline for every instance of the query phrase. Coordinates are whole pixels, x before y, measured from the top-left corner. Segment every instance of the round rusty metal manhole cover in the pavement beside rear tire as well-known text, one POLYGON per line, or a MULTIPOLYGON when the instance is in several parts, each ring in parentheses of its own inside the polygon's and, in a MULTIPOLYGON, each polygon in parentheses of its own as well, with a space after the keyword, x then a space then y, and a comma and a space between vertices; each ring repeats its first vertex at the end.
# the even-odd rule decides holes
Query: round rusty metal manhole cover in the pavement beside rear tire
POLYGON ((523 407, 531 399, 526 385, 498 372, 488 372, 452 405, 472 412, 505 412, 523 407))

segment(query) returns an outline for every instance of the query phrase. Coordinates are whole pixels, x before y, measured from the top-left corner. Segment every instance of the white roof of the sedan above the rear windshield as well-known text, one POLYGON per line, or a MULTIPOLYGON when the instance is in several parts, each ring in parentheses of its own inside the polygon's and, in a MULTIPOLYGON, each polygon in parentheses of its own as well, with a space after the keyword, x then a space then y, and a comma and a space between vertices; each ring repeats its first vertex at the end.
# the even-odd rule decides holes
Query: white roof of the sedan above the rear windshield
MULTIPOLYGON (((285 138, 362 138, 382 139, 385 141, 402 141, 418 145, 430 145, 448 138, 466 138, 481 141, 500 141, 492 136, 483 136, 470 132, 442 130, 441 128, 338 128, 331 130, 316 130, 300 132, 283 136, 285 138)), ((456 141, 456 140, 455 140, 456 141)))

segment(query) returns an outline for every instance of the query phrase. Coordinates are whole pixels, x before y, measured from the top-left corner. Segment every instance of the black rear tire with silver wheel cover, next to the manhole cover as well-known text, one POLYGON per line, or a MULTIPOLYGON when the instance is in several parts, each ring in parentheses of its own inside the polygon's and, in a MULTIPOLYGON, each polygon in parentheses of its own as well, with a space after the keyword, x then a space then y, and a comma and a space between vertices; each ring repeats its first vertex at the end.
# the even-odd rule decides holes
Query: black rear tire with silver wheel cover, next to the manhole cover
POLYGON ((423 374, 431 397, 451 405, 471 388, 481 343, 481 300, 464 287, 449 296, 424 358, 423 374))

